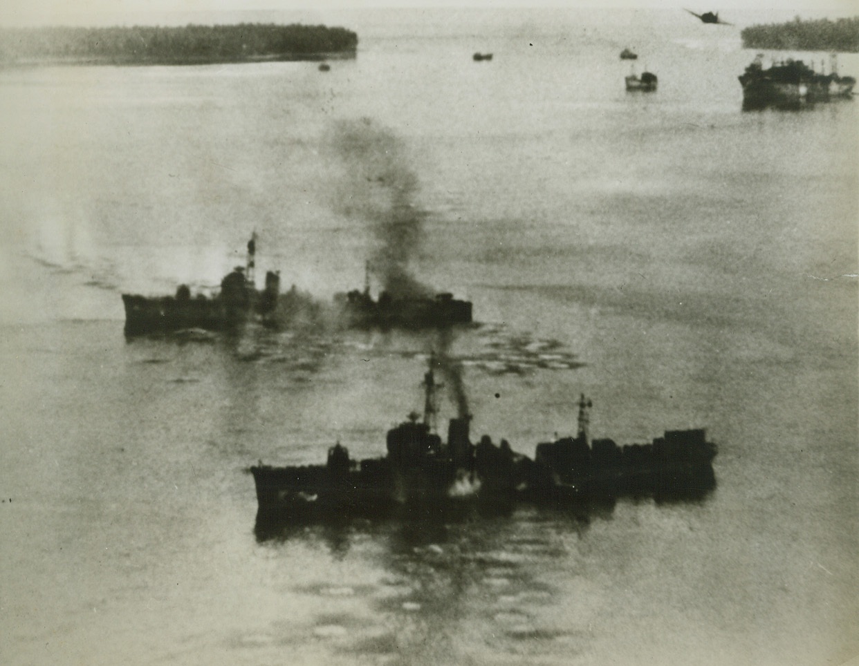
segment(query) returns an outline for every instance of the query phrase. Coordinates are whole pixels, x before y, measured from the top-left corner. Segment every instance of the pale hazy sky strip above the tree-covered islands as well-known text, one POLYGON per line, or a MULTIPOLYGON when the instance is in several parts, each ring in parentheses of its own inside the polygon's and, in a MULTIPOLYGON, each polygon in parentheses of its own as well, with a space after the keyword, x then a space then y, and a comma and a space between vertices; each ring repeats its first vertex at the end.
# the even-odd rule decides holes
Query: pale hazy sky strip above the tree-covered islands
POLYGON ((702 13, 775 9, 779 15, 844 16, 859 14, 857 0, 0 0, 0 25, 32 25, 86 22, 125 23, 154 20, 188 12, 235 12, 241 10, 336 9, 381 7, 483 8, 505 7, 612 7, 688 8, 702 13))

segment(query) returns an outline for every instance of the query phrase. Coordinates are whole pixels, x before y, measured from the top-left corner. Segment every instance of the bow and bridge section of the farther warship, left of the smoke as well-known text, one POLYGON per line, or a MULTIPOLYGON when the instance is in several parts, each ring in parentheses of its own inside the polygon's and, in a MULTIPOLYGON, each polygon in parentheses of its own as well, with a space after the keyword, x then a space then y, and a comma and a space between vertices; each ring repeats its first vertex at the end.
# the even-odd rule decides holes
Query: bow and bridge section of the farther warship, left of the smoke
POLYGON ((187 285, 180 285, 174 296, 122 294, 125 305, 125 335, 168 333, 186 329, 229 330, 249 319, 264 324, 273 321, 280 300, 280 274, 268 271, 265 288, 254 286, 256 233, 247 242, 247 262, 236 266, 221 281, 214 296, 192 297, 187 285))

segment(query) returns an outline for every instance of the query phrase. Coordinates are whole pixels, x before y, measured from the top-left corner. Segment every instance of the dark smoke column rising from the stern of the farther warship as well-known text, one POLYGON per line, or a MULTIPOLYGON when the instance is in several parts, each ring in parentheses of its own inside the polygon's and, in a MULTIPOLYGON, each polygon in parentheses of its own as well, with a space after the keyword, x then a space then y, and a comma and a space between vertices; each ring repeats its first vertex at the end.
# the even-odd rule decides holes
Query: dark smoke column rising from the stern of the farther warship
POLYGON ((335 208, 368 225, 375 239, 372 274, 394 298, 432 295, 411 273, 426 213, 414 203, 417 177, 403 142, 364 118, 336 124, 328 143, 345 167, 335 208))

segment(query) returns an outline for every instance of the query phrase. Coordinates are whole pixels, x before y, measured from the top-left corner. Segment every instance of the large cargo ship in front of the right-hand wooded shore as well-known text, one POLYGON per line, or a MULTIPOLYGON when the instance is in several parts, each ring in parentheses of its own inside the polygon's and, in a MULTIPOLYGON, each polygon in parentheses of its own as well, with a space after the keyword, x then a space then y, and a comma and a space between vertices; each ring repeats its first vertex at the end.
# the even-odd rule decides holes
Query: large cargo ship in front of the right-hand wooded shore
POLYGON ((805 103, 850 98, 856 79, 838 75, 838 61, 832 54, 830 73, 816 72, 801 60, 788 59, 764 69, 763 53, 739 76, 743 87, 743 108, 766 106, 796 108, 805 103))

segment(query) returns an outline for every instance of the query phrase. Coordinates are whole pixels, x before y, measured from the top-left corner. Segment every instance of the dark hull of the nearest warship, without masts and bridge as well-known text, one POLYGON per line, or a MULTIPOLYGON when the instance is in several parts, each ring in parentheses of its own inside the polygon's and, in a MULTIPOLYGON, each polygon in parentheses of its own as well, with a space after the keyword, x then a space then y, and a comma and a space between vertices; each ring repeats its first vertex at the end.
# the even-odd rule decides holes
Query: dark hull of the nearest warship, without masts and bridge
POLYGON ((554 455, 547 445, 539 445, 536 462, 493 454, 483 461, 476 458, 471 470, 444 459, 400 469, 389 458, 375 458, 341 475, 323 465, 260 465, 250 469, 257 524, 264 529, 352 518, 506 514, 521 504, 576 509, 612 505, 622 497, 701 500, 716 488, 716 446, 704 441, 703 431, 689 433, 694 434, 677 433, 667 444, 659 439, 588 457, 564 455, 563 448, 573 440, 559 440, 548 445, 555 447, 554 455))

